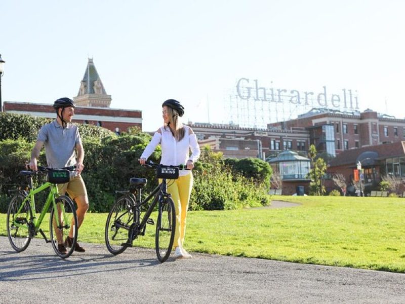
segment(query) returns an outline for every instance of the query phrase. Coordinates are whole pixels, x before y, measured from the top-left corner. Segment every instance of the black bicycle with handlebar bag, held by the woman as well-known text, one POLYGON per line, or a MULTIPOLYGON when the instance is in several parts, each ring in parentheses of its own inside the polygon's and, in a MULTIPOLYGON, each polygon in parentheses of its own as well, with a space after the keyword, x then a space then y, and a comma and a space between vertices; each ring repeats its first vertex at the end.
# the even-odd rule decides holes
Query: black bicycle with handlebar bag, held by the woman
POLYGON ((146 224, 154 224, 150 215, 157 204, 157 222, 155 233, 155 248, 157 259, 164 262, 170 256, 176 231, 176 211, 171 195, 167 192, 167 184, 171 179, 179 177, 179 170, 185 166, 164 166, 151 161, 145 166, 156 169, 157 178, 162 181, 153 189, 152 193, 141 201, 142 187, 146 185, 146 178, 130 179, 128 191, 116 191, 121 194, 108 213, 105 224, 105 243, 108 251, 119 254, 128 247, 138 236, 145 235, 146 224), (141 218, 141 207, 153 198, 152 203, 141 218))

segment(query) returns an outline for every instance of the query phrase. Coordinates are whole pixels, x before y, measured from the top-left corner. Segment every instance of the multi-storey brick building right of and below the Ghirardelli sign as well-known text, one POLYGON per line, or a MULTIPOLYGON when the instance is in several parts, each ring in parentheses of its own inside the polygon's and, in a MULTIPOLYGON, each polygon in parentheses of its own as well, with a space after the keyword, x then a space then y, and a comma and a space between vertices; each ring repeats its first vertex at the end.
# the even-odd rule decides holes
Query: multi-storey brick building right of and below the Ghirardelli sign
POLYGON ((318 151, 337 155, 342 151, 405 139, 405 120, 380 115, 367 109, 363 112, 341 112, 312 109, 297 119, 268 124, 282 130, 302 128, 309 131, 309 142, 318 151))

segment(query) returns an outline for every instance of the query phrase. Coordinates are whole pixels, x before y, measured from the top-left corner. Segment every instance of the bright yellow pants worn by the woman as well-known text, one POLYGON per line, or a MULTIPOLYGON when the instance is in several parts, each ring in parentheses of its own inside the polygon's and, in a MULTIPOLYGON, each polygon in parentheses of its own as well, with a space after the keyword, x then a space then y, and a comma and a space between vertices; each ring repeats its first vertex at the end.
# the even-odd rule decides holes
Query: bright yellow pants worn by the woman
MULTIPOLYGON (((186 234, 186 216, 188 202, 190 201, 191 189, 193 187, 193 174, 179 176, 178 179, 168 179, 168 193, 172 195, 176 209, 176 233, 173 247, 183 247, 186 234)), ((161 180, 159 180, 161 182, 161 180)))

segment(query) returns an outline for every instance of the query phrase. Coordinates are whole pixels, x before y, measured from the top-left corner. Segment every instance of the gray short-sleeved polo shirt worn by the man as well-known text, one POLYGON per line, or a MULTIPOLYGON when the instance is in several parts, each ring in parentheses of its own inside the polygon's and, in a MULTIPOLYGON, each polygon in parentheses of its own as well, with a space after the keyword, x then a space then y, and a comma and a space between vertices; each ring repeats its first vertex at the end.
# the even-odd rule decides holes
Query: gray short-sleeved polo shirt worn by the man
POLYGON ((77 126, 69 123, 63 129, 55 120, 52 123, 44 125, 39 130, 37 140, 45 144, 49 168, 60 169, 76 164, 74 147, 77 143, 82 142, 77 126))

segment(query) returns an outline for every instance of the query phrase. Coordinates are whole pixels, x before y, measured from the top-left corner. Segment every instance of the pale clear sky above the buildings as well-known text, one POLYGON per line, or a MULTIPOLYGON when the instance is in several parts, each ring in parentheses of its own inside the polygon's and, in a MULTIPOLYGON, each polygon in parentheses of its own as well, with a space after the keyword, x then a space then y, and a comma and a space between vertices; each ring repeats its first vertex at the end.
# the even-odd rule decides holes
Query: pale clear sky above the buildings
POLYGON ((403 119, 404 12, 402 0, 3 2, 2 99, 72 98, 91 57, 111 107, 142 110, 144 131, 168 98, 185 121, 228 123, 240 78, 351 89, 360 110, 403 119))

